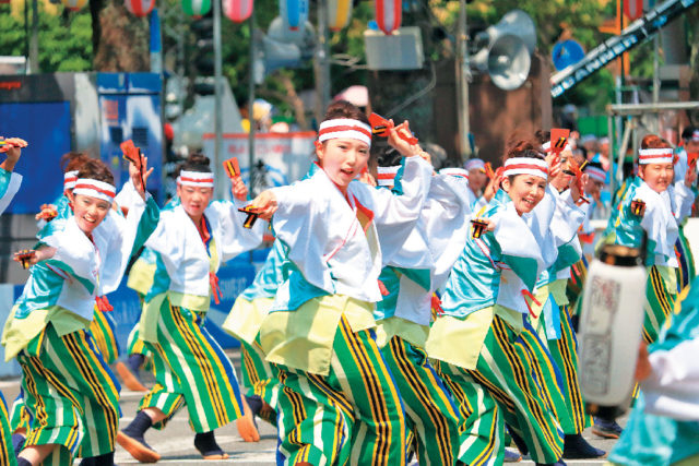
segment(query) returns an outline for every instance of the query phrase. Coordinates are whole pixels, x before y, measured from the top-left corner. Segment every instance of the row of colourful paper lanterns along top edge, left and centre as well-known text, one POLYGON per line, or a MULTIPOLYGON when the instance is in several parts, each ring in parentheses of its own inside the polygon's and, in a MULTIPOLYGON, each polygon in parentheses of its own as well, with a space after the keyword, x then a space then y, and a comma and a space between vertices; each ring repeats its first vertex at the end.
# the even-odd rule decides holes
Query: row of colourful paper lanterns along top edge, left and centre
MULTIPOLYGON (((79 11, 88 0, 61 0, 71 11, 79 11)), ((253 0, 222 0, 223 12, 230 21, 241 23, 250 17, 253 0)), ((308 21, 309 0, 280 0, 280 16, 284 26, 292 31, 303 27, 308 21)), ((401 27, 401 0, 375 0, 376 22, 384 34, 401 27)), ((147 16, 155 0, 125 0, 129 12, 135 16, 147 16)), ((211 10, 211 0, 182 0, 182 10, 190 16, 203 16, 211 10)), ((352 17, 352 0, 328 0, 329 27, 340 31, 352 17)))

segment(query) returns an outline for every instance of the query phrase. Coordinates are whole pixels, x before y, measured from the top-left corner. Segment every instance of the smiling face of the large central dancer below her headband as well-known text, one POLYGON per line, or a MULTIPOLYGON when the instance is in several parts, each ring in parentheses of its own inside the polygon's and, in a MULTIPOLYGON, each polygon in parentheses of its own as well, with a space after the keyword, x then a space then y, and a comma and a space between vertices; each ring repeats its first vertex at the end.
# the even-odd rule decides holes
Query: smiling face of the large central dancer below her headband
POLYGON ((369 162, 369 145, 351 138, 331 139, 316 146, 316 155, 328 177, 345 194, 350 182, 369 162))

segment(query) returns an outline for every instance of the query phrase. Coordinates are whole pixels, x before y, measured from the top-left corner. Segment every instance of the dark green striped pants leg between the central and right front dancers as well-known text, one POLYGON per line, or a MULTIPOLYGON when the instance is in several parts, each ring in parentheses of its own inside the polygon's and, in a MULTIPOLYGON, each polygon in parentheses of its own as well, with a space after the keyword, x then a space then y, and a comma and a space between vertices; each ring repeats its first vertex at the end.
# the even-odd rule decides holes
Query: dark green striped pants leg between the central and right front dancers
POLYGON ((459 415, 424 349, 399 336, 381 349, 415 434, 420 465, 453 465, 459 453, 459 415))

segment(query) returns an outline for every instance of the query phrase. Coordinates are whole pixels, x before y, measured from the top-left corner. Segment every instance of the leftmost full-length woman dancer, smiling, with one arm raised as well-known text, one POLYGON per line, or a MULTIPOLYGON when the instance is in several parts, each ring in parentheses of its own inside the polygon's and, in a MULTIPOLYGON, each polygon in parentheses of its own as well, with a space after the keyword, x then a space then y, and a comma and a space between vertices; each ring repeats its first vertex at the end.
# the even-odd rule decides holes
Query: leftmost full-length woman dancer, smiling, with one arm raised
POLYGON ((49 455, 47 462, 69 464, 75 454, 85 464, 114 463, 119 384, 87 328, 96 296, 117 288, 133 246, 157 224, 155 202, 138 189, 126 218, 108 216, 114 177, 102 162, 86 162, 70 194, 73 215, 46 227, 29 260, 29 279, 2 336, 5 358, 22 367, 32 417, 20 465, 49 455))

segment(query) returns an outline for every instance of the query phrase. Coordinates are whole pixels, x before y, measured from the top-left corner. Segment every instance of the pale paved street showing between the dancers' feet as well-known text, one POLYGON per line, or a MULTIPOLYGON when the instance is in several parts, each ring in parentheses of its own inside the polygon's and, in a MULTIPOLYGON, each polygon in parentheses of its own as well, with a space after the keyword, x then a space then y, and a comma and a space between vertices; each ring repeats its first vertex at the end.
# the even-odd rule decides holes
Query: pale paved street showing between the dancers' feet
MULTIPOLYGON (((238 374, 240 373, 239 351, 229 353, 238 374)), ((152 382, 152 378, 145 378, 146 382, 152 382)), ((19 380, 0 381, 0 390, 5 395, 8 403, 19 393, 19 380)), ((135 415, 142 394, 130 391, 121 393, 121 428, 128 425, 135 415)), ((621 422, 623 425, 624 422, 621 422)), ((201 458, 192 444, 193 435, 189 428, 187 413, 180 411, 164 431, 151 429, 146 435, 147 442, 163 455, 163 459, 158 464, 165 465, 272 465, 274 464, 276 447, 276 429, 259 421, 261 440, 257 443, 246 443, 238 435, 235 422, 216 431, 218 444, 230 455, 230 458, 221 462, 210 462, 201 458)), ((589 430, 584 437, 596 447, 608 451, 614 444, 613 441, 600 439, 593 435, 589 430)), ((120 446, 117 446, 116 463, 118 465, 138 464, 131 458, 120 446)), ((605 461, 567 461, 571 466, 602 465, 605 461)), ((78 464, 78 463, 75 463, 78 464)), ((520 465, 533 465, 531 461, 523 461, 520 465)))

